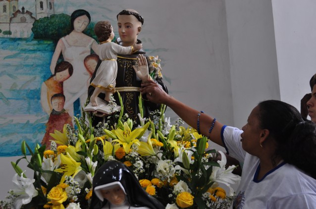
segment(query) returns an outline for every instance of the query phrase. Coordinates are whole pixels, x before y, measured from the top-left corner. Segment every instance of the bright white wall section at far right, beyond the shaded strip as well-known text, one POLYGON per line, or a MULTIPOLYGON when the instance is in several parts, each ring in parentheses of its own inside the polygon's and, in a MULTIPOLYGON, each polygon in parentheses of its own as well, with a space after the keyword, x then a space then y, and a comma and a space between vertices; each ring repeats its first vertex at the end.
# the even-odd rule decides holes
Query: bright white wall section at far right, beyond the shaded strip
POLYGON ((300 109, 316 73, 316 1, 272 0, 281 100, 300 109))

